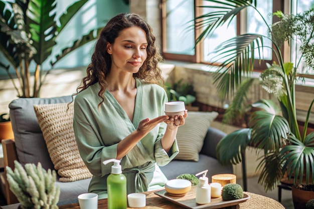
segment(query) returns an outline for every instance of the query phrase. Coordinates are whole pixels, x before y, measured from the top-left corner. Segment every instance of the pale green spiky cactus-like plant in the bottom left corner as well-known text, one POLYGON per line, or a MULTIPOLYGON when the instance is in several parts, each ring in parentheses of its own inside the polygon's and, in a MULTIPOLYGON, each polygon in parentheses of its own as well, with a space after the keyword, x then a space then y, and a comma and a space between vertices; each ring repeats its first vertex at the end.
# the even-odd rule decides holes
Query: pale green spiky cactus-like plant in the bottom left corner
POLYGON ((25 164, 25 168, 15 161, 14 171, 7 169, 7 179, 11 191, 17 196, 22 209, 57 209, 60 188, 55 184, 56 171, 47 171, 39 162, 25 164))

